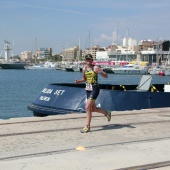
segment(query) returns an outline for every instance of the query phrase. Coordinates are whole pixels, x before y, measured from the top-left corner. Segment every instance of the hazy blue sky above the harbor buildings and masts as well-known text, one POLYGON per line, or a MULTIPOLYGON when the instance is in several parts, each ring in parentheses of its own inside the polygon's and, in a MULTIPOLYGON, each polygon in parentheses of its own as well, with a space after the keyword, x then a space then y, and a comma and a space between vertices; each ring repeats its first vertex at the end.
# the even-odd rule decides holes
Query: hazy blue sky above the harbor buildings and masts
POLYGON ((0 22, 0 49, 8 40, 14 55, 35 51, 36 38, 37 49, 53 53, 79 38, 81 49, 122 44, 127 30, 137 40, 170 40, 170 0, 0 0, 0 22))

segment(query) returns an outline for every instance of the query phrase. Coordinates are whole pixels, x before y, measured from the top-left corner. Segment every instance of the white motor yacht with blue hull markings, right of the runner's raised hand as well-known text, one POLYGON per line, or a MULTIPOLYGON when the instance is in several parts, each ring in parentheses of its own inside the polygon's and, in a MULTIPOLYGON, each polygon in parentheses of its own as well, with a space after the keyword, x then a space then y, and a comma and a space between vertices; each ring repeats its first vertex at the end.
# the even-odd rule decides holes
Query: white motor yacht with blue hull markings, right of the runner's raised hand
POLYGON ((138 64, 126 64, 119 68, 112 68, 114 74, 148 74, 145 67, 138 64))

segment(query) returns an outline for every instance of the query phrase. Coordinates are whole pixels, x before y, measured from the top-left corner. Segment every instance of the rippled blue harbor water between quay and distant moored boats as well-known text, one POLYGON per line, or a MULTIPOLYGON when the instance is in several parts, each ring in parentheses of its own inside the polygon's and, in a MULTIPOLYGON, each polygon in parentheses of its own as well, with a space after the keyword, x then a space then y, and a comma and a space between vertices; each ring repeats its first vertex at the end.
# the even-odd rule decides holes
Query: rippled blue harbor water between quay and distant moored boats
MULTIPOLYGON (((107 79, 99 76, 101 84, 137 85, 141 75, 108 74, 107 79)), ((27 109, 41 90, 49 83, 74 83, 81 79, 81 72, 62 70, 6 70, 0 69, 0 119, 32 117, 27 109)), ((152 84, 167 84, 170 76, 153 75, 152 84)))

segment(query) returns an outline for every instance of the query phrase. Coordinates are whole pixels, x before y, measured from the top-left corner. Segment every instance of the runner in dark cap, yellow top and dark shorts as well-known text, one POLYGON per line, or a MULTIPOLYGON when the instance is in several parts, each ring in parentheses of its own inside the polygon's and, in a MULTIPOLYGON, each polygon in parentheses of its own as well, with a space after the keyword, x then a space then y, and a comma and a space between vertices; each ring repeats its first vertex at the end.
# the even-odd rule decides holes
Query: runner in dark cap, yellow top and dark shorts
POLYGON ((86 126, 80 130, 81 133, 87 133, 90 131, 90 123, 92 118, 92 112, 99 112, 104 114, 108 121, 111 120, 111 112, 104 111, 101 108, 96 107, 95 100, 97 99, 100 89, 98 84, 98 74, 100 74, 104 78, 108 78, 107 73, 105 73, 100 67, 94 66, 93 56, 91 54, 87 54, 85 56, 86 66, 83 68, 83 77, 81 80, 75 80, 75 83, 82 83, 86 81, 86 126))

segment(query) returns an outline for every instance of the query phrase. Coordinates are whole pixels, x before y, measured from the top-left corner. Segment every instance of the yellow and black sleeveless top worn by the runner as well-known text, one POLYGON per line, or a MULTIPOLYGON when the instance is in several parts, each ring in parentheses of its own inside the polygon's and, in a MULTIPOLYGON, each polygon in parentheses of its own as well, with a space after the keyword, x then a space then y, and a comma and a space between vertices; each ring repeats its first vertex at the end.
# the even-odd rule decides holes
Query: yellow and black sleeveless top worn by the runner
POLYGON ((98 84, 98 74, 94 72, 94 67, 92 67, 89 71, 85 67, 84 74, 86 77, 86 82, 89 84, 98 84))

